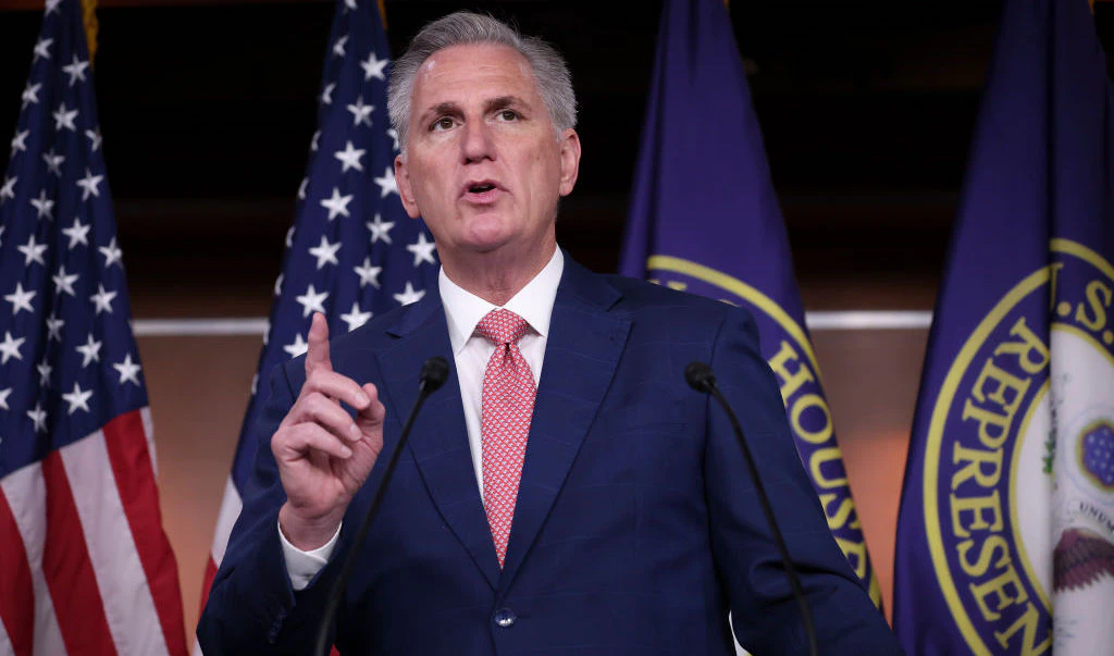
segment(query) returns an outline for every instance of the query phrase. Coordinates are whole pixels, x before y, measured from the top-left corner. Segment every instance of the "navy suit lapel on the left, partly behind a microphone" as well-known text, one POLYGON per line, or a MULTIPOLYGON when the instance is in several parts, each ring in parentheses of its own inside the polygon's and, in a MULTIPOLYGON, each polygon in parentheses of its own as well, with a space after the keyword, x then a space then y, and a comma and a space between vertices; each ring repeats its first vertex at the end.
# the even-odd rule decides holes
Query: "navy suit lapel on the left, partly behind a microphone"
MULTIPOLYGON (((434 285, 431 297, 388 329, 399 340, 379 354, 383 384, 400 424, 418 398, 418 374, 426 359, 441 355, 453 362, 444 309, 436 290, 434 285)), ((495 589, 499 561, 476 484, 456 366, 450 366, 449 380, 426 401, 408 447, 444 522, 495 589)))

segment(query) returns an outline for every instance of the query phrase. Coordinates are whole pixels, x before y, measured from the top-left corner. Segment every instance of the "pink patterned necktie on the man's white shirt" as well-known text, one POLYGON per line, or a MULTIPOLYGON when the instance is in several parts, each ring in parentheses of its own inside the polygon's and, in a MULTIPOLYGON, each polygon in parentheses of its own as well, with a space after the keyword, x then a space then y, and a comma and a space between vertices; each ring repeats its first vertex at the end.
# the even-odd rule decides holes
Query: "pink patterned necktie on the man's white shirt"
POLYGON ((495 344, 483 374, 481 434, 483 438, 483 508, 499 567, 507 559, 510 525, 515 518, 518 482, 526 458, 534 398, 537 389, 530 365, 518 350, 518 340, 530 329, 509 310, 492 310, 476 331, 495 344))

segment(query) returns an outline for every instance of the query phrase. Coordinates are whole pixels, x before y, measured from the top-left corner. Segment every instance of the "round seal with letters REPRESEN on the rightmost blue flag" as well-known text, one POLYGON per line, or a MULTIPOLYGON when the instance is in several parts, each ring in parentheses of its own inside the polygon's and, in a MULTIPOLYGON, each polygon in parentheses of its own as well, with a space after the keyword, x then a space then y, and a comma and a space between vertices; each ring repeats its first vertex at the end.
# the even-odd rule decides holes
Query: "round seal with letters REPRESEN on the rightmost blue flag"
POLYGON ((1049 253, 932 409, 925 529, 974 654, 1114 654, 1095 630, 1114 627, 1114 268, 1066 239, 1049 253))

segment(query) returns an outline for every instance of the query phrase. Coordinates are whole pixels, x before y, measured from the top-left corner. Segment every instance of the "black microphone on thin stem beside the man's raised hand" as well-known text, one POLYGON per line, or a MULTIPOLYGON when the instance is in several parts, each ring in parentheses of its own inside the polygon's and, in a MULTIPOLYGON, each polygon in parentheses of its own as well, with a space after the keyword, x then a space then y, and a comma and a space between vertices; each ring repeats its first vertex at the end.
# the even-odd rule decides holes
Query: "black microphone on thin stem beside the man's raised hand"
POLYGON ((402 449, 407 446, 407 438, 410 437, 410 429, 413 427, 414 419, 418 418, 418 411, 421 409, 422 403, 426 402, 426 399, 440 389, 447 380, 449 380, 449 362, 444 358, 434 355, 421 365, 421 373, 418 378, 418 399, 414 401, 413 408, 410 409, 410 417, 407 418, 407 422, 402 424, 402 433, 399 434, 399 442, 394 446, 391 459, 387 461, 387 469, 383 470, 383 476, 375 486, 375 492, 371 497, 371 506, 368 508, 368 513, 363 516, 363 523, 360 525, 360 530, 355 535, 352 549, 344 558, 341 572, 336 576, 336 580, 329 591, 325 615, 321 618, 321 625, 317 627, 317 642, 313 648, 313 653, 317 656, 324 656, 330 647, 329 625, 332 624, 333 616, 336 615, 336 608, 341 604, 341 597, 344 596, 348 579, 355 567, 356 554, 360 552, 360 547, 363 546, 363 538, 368 535, 368 528, 371 527, 371 522, 375 519, 379 503, 383 500, 383 492, 387 490, 387 483, 391 480, 394 467, 399 463, 399 456, 402 454, 402 449))

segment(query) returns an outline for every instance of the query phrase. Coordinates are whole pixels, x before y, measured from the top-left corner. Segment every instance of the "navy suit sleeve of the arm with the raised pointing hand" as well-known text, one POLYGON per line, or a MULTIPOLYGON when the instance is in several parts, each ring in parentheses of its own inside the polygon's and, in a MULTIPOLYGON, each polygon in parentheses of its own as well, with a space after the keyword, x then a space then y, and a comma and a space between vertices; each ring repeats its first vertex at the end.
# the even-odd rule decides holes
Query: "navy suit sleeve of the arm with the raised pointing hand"
POLYGON ((278 509, 286 501, 271 453, 271 435, 293 405, 294 390, 283 366, 271 375, 271 395, 254 430, 252 477, 243 509, 213 580, 197 625, 205 656, 310 654, 325 600, 343 559, 342 539, 330 564, 295 593, 278 539, 278 509))

